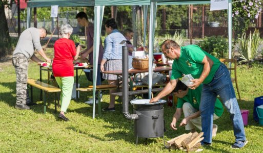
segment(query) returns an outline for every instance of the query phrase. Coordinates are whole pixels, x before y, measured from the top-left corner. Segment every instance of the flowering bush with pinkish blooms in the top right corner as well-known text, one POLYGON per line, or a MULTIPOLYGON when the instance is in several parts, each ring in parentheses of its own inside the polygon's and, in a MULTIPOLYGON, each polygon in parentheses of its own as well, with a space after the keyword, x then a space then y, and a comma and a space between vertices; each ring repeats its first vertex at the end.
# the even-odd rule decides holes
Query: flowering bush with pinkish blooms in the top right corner
POLYGON ((233 6, 233 29, 234 37, 240 38, 246 32, 249 24, 254 22, 262 10, 262 0, 240 0, 232 4, 233 6))

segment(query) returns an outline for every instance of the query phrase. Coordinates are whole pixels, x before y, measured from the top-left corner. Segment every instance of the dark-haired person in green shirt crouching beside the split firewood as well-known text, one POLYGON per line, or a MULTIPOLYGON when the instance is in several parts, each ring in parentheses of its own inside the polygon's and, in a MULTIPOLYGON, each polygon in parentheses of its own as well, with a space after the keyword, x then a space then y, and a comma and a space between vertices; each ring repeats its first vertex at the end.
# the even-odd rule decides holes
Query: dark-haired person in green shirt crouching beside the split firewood
MULTIPOLYGON (((203 84, 197 87, 195 90, 189 89, 184 83, 178 80, 176 87, 173 92, 176 97, 178 97, 176 112, 173 115, 173 120, 170 124, 173 130, 177 130, 176 122, 181 116, 181 112, 184 112, 185 118, 181 121, 179 126, 186 125, 186 130, 191 130, 195 132, 195 127, 202 130, 201 126, 201 116, 199 111, 200 98, 202 92, 203 84)), ((216 98, 215 109, 213 120, 219 118, 224 112, 221 101, 216 98)), ((216 135, 217 125, 213 124, 212 136, 216 135)))

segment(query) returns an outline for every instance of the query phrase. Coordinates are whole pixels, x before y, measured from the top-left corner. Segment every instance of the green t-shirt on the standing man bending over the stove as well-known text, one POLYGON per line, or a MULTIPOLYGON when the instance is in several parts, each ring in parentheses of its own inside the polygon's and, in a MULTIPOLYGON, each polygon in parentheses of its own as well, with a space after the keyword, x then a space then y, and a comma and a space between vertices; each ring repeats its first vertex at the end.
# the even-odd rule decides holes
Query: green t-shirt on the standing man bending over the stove
POLYGON ((192 74, 194 79, 200 78, 204 68, 202 61, 205 56, 208 56, 214 62, 207 78, 203 82, 204 84, 210 83, 220 66, 220 61, 197 45, 181 47, 179 59, 173 61, 171 80, 180 78, 182 74, 192 74))

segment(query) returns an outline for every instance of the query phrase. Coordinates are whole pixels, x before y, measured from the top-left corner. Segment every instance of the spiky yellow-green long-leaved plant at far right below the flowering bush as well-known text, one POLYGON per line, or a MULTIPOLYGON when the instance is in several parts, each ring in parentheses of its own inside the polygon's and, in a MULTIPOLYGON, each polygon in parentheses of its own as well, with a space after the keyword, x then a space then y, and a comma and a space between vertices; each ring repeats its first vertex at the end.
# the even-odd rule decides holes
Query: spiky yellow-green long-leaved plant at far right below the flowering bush
POLYGON ((247 38, 246 33, 242 34, 241 38, 239 39, 239 47, 238 51, 241 54, 241 59, 243 61, 251 61, 257 55, 257 49, 260 43, 260 36, 258 31, 254 31, 253 34, 250 34, 247 38))

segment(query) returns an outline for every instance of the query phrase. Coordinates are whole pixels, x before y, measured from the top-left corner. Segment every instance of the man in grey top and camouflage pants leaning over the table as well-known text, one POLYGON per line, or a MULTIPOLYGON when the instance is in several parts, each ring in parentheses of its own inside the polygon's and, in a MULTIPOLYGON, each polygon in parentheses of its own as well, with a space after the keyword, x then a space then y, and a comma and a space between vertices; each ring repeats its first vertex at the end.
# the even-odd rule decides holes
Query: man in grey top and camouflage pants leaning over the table
MULTIPOLYGON (((34 55, 34 49, 47 61, 51 62, 49 58, 46 57, 44 50, 40 44, 40 39, 47 36, 47 30, 44 28, 36 29, 29 28, 25 30, 16 44, 12 62, 15 67, 16 73, 16 103, 15 108, 17 109, 30 109, 26 105, 27 102, 27 71, 29 59, 42 63, 43 61, 38 59, 34 55)), ((29 98, 28 98, 29 99, 29 98)))

